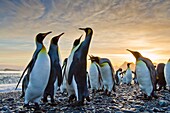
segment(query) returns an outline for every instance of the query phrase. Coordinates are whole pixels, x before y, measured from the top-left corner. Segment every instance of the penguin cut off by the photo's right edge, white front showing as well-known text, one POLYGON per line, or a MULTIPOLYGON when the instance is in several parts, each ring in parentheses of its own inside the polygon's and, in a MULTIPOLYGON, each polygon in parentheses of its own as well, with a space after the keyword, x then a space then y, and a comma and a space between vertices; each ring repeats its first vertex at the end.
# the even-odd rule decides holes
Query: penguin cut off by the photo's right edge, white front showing
POLYGON ((168 90, 170 91, 170 59, 165 65, 164 73, 165 73, 165 80, 168 86, 168 90))

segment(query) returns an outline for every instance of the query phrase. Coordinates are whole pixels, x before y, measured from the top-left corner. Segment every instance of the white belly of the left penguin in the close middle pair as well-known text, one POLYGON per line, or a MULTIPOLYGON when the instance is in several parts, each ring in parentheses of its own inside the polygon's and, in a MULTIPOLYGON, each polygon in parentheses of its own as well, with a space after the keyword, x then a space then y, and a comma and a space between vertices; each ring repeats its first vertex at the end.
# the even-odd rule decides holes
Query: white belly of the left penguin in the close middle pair
POLYGON ((91 88, 98 90, 99 89, 99 72, 98 72, 98 69, 95 63, 92 63, 90 65, 89 76, 90 76, 91 88))

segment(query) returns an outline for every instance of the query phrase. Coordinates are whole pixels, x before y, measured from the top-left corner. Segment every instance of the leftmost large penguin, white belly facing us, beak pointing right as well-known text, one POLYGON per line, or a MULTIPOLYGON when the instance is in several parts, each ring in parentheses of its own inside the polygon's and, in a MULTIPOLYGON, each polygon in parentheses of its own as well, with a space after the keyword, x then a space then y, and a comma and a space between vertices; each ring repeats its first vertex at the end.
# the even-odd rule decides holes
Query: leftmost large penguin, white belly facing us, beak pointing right
POLYGON ((27 83, 25 83, 26 86, 22 88, 24 89, 25 96, 24 107, 28 107, 29 102, 34 102, 36 109, 39 109, 40 99, 43 96, 50 75, 51 62, 49 55, 46 52, 46 48, 43 45, 44 38, 50 33, 51 32, 39 33, 36 36, 36 51, 19 80, 20 82, 27 71, 27 74, 25 75, 26 81, 24 81, 27 83))

